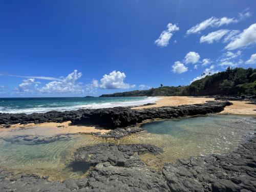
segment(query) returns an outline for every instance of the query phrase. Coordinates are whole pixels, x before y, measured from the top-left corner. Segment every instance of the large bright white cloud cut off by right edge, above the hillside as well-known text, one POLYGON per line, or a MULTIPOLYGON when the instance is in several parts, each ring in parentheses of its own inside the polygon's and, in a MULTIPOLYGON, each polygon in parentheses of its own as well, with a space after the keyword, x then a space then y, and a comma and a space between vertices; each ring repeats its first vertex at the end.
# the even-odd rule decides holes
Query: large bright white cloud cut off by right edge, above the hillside
POLYGON ((256 44, 256 23, 252 24, 247 29, 243 30, 236 38, 225 47, 227 50, 234 50, 238 48, 247 47, 256 44))

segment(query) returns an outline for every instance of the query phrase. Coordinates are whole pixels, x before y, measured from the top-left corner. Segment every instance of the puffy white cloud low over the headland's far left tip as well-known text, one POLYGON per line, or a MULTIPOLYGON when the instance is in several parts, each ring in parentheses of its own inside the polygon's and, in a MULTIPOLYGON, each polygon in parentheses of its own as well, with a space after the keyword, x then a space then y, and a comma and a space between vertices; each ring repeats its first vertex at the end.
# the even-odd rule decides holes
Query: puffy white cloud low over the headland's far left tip
MULTIPOLYGON (((134 88, 135 84, 124 83, 126 75, 120 71, 112 71, 109 75, 103 75, 98 84, 102 89, 129 89, 134 88)), ((96 84, 96 83, 95 83, 96 84)))

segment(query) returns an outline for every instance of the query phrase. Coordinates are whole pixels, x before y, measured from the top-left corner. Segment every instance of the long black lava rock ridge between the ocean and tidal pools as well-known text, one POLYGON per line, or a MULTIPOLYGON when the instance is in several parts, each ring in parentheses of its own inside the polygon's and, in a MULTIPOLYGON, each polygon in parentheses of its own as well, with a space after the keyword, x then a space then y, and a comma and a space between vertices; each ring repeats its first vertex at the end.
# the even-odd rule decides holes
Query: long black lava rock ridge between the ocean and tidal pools
POLYGON ((107 109, 84 109, 77 111, 33 114, 6 114, 0 113, 0 124, 26 124, 42 122, 64 122, 72 121, 73 124, 93 124, 110 129, 116 127, 126 127, 135 125, 146 119, 154 118, 177 118, 186 115, 204 115, 207 113, 217 113, 224 110, 226 102, 207 102, 204 104, 191 104, 180 106, 163 106, 160 108, 150 108, 144 110, 132 110, 131 108, 107 108, 107 109))

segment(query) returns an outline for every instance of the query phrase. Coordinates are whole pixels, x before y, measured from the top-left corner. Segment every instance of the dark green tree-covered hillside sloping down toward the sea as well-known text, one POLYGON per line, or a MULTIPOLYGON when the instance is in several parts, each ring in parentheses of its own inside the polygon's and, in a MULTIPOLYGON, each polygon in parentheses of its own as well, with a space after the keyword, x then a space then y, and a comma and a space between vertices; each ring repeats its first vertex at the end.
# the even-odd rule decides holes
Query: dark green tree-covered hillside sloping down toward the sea
POLYGON ((101 97, 131 96, 199 96, 199 95, 256 94, 256 69, 227 68, 224 72, 206 75, 189 86, 159 87, 150 90, 135 90, 101 95, 101 97))

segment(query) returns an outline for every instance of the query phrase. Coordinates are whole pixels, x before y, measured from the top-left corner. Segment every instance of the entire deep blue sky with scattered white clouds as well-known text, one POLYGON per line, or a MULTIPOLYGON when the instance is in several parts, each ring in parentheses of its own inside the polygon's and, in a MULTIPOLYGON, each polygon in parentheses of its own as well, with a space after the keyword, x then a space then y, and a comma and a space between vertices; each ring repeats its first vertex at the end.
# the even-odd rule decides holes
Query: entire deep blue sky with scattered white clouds
POLYGON ((188 85, 256 66, 254 0, 0 1, 0 97, 188 85))

